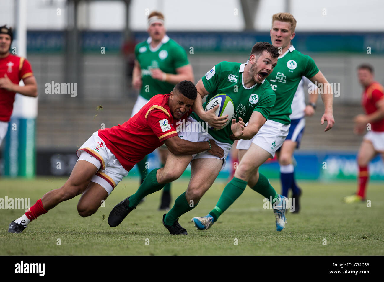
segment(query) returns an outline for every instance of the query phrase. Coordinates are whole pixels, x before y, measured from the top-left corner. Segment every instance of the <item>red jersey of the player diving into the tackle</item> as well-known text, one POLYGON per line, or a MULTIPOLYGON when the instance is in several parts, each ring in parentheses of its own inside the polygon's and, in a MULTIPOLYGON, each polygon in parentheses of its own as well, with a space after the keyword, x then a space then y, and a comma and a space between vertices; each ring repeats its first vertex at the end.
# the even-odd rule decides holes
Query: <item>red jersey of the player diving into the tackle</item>
MULTIPOLYGON (((176 122, 168 104, 169 94, 153 96, 139 112, 123 124, 109 129, 99 129, 98 135, 129 171, 146 155, 177 136, 176 122)), ((181 119, 186 119, 189 110, 181 119)))

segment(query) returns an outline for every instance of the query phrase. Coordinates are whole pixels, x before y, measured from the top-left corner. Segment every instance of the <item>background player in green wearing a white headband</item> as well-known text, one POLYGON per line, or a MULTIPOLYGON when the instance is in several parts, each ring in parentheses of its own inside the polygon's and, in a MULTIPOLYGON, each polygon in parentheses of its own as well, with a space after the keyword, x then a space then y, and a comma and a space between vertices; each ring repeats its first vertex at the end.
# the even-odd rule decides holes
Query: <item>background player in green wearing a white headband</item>
MULTIPOLYGON (((144 106, 151 97, 158 94, 169 94, 180 81, 194 82, 192 66, 188 62, 185 50, 166 35, 164 16, 160 12, 152 12, 148 16, 148 33, 146 41, 135 47, 135 64, 132 74, 132 86, 139 89, 132 116, 144 106)), ((162 166, 168 154, 167 147, 159 147, 159 158, 162 166)), ((141 174, 141 183, 147 175, 147 157, 137 163, 141 174)), ((160 209, 169 208, 170 184, 163 189, 160 209)))

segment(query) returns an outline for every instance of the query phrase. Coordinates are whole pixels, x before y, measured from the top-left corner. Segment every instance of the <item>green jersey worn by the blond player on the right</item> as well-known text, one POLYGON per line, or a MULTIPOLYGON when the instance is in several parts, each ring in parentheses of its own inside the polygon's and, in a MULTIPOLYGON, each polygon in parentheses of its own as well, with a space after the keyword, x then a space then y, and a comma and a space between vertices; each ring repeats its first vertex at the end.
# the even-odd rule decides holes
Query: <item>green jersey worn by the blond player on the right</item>
POLYGON ((290 124, 291 104, 301 77, 311 78, 318 72, 319 69, 314 60, 310 56, 301 54, 293 46, 281 55, 268 76, 271 87, 276 93, 275 106, 268 119, 285 125, 290 124))

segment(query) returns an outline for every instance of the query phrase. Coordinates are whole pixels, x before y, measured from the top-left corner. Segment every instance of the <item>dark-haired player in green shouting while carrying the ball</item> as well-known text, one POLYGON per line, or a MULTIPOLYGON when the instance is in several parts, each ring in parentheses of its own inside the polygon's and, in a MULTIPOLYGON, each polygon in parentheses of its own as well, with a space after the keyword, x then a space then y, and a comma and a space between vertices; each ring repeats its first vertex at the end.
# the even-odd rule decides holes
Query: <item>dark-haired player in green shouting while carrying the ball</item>
POLYGON ((191 178, 187 191, 175 200, 172 209, 163 216, 163 224, 171 234, 187 234, 177 219, 197 206, 225 166, 225 158, 233 144, 230 135, 239 139, 252 139, 268 119, 276 95, 266 77, 276 66, 278 56, 276 47, 267 42, 259 42, 253 46, 248 64, 221 62, 200 79, 196 85, 200 95, 197 95, 193 104, 194 112, 187 119, 192 126, 182 126, 178 135, 181 139, 193 141, 214 139, 216 145, 224 150, 223 157, 208 152, 189 156, 169 153, 164 168, 152 170, 136 193, 113 208, 108 218, 110 226, 120 224, 143 197, 179 178, 190 163, 191 178), (209 101, 220 93, 231 97, 235 109, 234 119, 223 129, 207 129, 206 122, 219 129, 228 120, 227 116, 217 117, 214 114, 218 106, 205 112, 207 102, 202 104, 204 96, 208 95, 209 101), (248 122, 247 127, 244 127, 244 122, 248 122))

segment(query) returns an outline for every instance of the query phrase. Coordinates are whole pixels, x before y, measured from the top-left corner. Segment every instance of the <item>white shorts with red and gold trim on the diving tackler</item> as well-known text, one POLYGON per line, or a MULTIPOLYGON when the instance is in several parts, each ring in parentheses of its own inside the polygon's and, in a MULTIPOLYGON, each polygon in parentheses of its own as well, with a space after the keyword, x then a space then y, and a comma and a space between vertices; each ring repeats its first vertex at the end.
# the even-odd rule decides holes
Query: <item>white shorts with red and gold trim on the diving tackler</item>
POLYGON ((93 163, 99 171, 92 177, 91 181, 100 184, 111 194, 128 172, 122 167, 119 160, 109 150, 104 141, 94 132, 91 137, 76 151, 79 160, 93 163))

